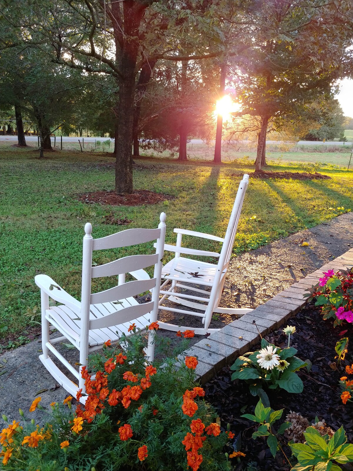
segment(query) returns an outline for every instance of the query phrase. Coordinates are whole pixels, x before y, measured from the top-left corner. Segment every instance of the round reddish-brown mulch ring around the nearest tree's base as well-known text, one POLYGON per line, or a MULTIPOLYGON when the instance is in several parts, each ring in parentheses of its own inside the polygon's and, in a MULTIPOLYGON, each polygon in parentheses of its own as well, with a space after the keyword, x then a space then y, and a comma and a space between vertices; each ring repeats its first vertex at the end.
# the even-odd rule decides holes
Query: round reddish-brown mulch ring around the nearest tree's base
POLYGON ((95 191, 79 195, 82 203, 110 204, 111 206, 141 206, 143 204, 157 204, 173 199, 171 195, 154 193, 149 190, 135 190, 131 195, 117 195, 114 191, 95 191))

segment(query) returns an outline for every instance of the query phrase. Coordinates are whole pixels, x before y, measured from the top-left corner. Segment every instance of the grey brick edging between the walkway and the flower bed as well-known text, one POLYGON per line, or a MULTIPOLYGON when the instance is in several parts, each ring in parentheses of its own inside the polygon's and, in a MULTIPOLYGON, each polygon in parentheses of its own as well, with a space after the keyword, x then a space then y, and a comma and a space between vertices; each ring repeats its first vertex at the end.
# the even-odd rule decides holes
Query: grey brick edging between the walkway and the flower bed
POLYGON ((195 370, 197 379, 201 383, 209 381, 217 371, 233 363, 235 358, 250 351, 250 347, 260 341, 257 328, 261 335, 266 335, 296 315, 307 302, 303 297, 305 290, 318 282, 323 271, 344 270, 352 266, 353 249, 350 249, 278 293, 265 304, 195 343, 178 356, 179 361, 184 362, 185 356, 197 357, 199 361, 195 370), (257 328, 253 325, 254 320, 257 328))

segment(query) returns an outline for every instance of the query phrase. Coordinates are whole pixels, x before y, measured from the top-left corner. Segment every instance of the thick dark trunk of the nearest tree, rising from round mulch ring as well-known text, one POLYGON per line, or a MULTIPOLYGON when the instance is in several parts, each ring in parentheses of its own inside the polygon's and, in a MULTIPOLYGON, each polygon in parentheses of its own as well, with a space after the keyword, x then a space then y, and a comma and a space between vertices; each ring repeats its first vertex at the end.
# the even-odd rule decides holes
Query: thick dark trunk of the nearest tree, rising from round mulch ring
POLYGON ((132 124, 134 120, 135 77, 124 77, 119 84, 118 130, 115 139, 115 193, 131 194, 132 188, 132 124))

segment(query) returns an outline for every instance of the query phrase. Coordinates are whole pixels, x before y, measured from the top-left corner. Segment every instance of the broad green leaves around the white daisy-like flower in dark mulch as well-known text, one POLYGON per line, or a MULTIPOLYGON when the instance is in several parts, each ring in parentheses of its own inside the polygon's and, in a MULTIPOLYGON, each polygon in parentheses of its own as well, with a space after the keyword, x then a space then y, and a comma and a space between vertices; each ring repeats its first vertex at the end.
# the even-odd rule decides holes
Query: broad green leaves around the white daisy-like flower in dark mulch
POLYGON ((258 356, 262 350, 248 352, 238 357, 231 370, 232 380, 240 379, 249 384, 250 392, 253 396, 260 395, 265 389, 281 388, 288 392, 300 393, 303 391, 303 382, 296 372, 307 365, 300 358, 295 357, 297 350, 293 347, 280 349, 265 339, 261 341, 261 349, 272 347, 276 349, 275 356, 278 356, 279 365, 273 365, 272 368, 264 369, 258 363, 258 356))

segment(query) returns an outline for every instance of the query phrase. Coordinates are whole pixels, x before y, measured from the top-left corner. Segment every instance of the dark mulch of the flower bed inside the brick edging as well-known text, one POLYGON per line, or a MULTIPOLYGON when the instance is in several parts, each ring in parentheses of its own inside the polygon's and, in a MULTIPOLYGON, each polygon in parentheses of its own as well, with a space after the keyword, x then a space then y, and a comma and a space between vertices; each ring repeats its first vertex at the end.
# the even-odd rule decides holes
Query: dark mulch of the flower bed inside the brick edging
MULTIPOLYGON (((328 427, 334 431, 343 425, 347 442, 353 442, 353 403, 342 403, 340 398, 341 390, 339 379, 346 376, 345 365, 353 362, 353 325, 344 325, 333 328, 331 319, 324 321, 320 315, 320 310, 313 304, 308 304, 296 317, 289 320, 289 325, 296 326, 297 332, 291 336, 291 347, 297 349, 296 356, 303 361, 310 360, 312 367, 309 371, 302 368, 299 377, 304 383, 304 390, 300 394, 290 394, 283 389, 266 390, 270 399, 272 409, 284 409, 281 420, 275 422, 275 429, 282 422, 286 421, 286 416, 291 411, 297 412, 306 417, 310 424, 315 421, 315 416, 320 421, 325 421, 328 427), (337 364, 335 362, 335 345, 342 338, 348 337, 350 345, 346 359, 337 364)), ((285 326, 284 326, 285 327, 285 326)), ((288 337, 282 329, 277 330, 265 339, 278 347, 287 346, 288 337)), ((260 344, 251 348, 256 351, 260 344)), ((307 362, 308 363, 308 362, 307 362)), ((310 365, 310 363, 309 363, 310 365)), ((235 434, 233 445, 238 445, 237 450, 246 455, 241 458, 241 463, 233 460, 234 470, 241 471, 247 469, 247 463, 255 462, 254 470, 258 471, 289 471, 289 464, 285 460, 281 451, 277 452, 275 458, 267 447, 265 438, 251 438, 257 430, 255 422, 241 417, 242 414, 254 414, 255 406, 259 400, 249 392, 249 386, 245 381, 231 379, 232 371, 229 367, 223 368, 217 376, 208 382, 204 389, 205 399, 213 404, 221 419, 221 427, 225 428, 230 423, 231 430, 235 434), (240 442, 239 442, 240 440, 240 442), (238 442, 237 442, 238 441, 238 442)), ((288 439, 283 439, 282 448, 288 457, 291 451, 287 446, 288 439)), ((227 450, 232 453, 232 449, 227 450)), ((296 460, 293 460, 296 463, 296 460)), ((293 465, 294 465, 293 463, 293 465)), ((351 464, 338 465, 345 470, 353 470, 351 464)))

